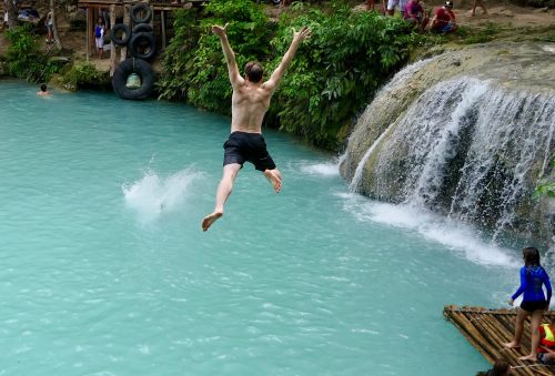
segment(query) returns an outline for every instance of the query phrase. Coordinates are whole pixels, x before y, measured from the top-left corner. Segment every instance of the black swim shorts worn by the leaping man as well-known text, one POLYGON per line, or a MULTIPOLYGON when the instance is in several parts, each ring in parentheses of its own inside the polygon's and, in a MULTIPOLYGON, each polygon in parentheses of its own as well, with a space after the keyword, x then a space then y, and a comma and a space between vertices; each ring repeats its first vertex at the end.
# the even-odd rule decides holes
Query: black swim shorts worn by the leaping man
POLYGON ((233 132, 223 144, 223 165, 251 162, 259 171, 273 170, 275 163, 266 151, 266 142, 260 133, 233 132))

